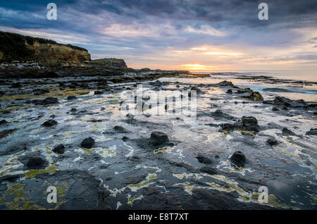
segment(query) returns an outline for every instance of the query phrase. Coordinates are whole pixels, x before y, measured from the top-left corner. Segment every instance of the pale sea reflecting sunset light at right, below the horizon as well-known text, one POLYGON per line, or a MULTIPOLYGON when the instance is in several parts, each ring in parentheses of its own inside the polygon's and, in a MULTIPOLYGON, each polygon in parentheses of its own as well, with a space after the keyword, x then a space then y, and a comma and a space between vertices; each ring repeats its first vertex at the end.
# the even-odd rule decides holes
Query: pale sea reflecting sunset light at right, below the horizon
POLYGON ((179 82, 187 84, 214 84, 228 80, 238 87, 249 87, 252 90, 259 91, 263 95, 268 95, 268 97, 278 95, 293 100, 304 99, 309 102, 317 102, 316 70, 222 70, 201 73, 209 74, 210 77, 168 77, 161 80, 175 81, 178 79, 179 82), (264 76, 263 79, 253 78, 261 76, 264 76), (269 77, 269 79, 266 77, 269 77), (273 82, 273 80, 278 80, 278 82, 273 82))

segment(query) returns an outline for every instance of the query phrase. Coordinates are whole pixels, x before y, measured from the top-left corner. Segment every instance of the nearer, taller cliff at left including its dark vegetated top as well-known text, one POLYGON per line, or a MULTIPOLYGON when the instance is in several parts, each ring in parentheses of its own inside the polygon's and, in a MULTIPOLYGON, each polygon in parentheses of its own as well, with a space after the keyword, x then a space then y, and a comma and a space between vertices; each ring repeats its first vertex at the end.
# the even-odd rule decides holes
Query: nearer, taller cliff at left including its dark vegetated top
POLYGON ((0 32, 0 63, 35 61, 40 66, 85 66, 90 54, 70 44, 50 39, 0 32))

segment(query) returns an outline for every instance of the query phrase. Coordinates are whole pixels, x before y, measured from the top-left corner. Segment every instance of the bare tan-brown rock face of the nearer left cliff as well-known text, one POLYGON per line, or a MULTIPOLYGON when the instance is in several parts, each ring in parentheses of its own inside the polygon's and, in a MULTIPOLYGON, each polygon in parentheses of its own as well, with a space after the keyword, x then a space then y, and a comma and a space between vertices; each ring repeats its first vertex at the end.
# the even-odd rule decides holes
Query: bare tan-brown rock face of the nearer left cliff
POLYGON ((27 44, 34 51, 35 61, 42 66, 85 66, 90 61, 88 51, 61 44, 27 44))

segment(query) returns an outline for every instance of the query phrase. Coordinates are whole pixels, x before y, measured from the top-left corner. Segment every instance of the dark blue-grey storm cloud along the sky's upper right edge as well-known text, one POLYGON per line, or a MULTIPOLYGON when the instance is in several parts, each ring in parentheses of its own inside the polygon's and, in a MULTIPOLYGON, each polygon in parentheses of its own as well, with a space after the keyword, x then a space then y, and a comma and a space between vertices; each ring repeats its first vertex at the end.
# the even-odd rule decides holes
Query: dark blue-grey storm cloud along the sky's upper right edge
MULTIPOLYGON (((135 14, 158 16, 177 20, 203 20, 209 23, 228 22, 231 24, 254 26, 259 23, 257 6, 266 2, 269 6, 270 18, 274 23, 285 21, 300 22, 304 16, 316 23, 317 1, 254 1, 254 0, 180 0, 180 1, 144 1, 119 0, 111 1, 124 10, 132 10, 135 14)), ((295 24, 294 24, 295 25, 295 24)))

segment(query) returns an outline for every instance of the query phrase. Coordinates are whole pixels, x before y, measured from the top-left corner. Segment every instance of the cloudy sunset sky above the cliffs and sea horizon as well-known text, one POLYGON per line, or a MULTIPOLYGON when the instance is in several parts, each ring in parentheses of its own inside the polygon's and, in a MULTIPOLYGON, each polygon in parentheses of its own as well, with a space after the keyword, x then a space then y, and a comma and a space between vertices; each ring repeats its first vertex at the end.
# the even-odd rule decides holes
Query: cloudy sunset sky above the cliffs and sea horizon
POLYGON ((0 0, 0 30, 130 68, 317 70, 316 0, 0 0), (46 5, 55 3, 57 20, 46 5), (259 20, 259 4, 268 20, 259 20))

